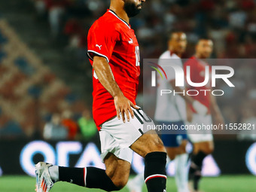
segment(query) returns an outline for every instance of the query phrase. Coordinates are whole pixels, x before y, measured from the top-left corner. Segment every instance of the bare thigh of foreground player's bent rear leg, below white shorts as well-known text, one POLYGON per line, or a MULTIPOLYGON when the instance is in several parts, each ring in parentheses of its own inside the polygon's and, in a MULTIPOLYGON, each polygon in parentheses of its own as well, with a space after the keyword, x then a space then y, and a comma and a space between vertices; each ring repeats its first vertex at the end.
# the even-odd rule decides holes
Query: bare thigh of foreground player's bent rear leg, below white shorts
POLYGON ((117 187, 123 187, 129 178, 131 164, 121 160, 112 153, 108 153, 104 159, 106 174, 117 187))

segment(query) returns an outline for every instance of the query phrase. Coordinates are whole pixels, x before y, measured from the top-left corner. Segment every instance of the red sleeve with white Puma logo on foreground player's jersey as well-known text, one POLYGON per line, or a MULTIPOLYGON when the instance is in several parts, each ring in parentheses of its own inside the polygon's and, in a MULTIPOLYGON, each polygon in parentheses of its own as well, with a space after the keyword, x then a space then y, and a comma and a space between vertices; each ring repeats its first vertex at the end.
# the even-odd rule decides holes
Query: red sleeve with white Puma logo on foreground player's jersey
POLYGON ((114 27, 100 23, 93 24, 87 37, 87 56, 89 59, 93 60, 93 56, 103 56, 109 62, 119 36, 119 32, 114 27))

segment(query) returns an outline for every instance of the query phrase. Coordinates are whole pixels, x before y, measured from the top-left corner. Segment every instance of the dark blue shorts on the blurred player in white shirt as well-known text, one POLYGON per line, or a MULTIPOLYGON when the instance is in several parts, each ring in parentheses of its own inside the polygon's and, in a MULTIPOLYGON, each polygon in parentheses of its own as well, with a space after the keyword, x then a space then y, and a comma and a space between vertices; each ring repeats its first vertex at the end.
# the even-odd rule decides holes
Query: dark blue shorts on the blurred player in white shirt
POLYGON ((175 122, 159 121, 157 124, 165 124, 166 126, 178 126, 179 130, 168 130, 168 132, 162 132, 161 139, 163 145, 169 148, 177 148, 181 145, 182 140, 187 139, 186 130, 180 130, 181 126, 184 125, 182 120, 175 122))

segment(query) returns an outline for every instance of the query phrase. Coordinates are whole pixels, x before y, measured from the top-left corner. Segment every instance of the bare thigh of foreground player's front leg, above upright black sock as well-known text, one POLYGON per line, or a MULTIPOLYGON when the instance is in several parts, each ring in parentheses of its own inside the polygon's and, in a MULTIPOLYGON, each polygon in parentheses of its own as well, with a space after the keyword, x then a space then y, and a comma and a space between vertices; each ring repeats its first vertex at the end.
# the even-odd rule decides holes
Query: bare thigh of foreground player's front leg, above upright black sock
POLYGON ((142 157, 154 151, 166 152, 163 142, 154 130, 143 134, 134 142, 130 148, 142 157))

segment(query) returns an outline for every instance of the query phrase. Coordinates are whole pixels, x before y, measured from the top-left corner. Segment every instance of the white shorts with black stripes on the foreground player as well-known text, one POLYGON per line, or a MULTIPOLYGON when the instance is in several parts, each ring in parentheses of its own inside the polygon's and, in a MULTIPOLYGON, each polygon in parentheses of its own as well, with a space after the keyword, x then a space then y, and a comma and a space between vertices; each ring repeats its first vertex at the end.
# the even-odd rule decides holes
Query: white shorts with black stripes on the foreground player
POLYGON ((130 145, 148 131, 143 129, 143 126, 148 124, 154 126, 153 120, 146 116, 141 108, 133 109, 133 112, 134 118, 130 117, 130 122, 127 122, 126 118, 126 123, 123 123, 122 119, 118 120, 117 117, 114 117, 102 123, 99 130, 102 161, 108 153, 112 153, 122 160, 132 162, 133 151, 130 149, 130 145))

